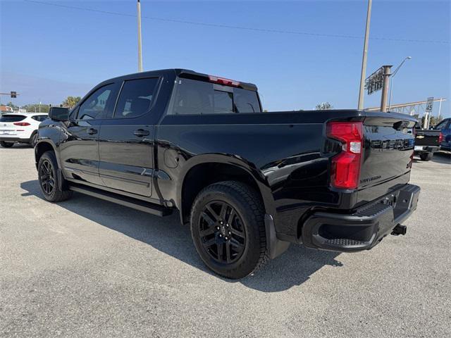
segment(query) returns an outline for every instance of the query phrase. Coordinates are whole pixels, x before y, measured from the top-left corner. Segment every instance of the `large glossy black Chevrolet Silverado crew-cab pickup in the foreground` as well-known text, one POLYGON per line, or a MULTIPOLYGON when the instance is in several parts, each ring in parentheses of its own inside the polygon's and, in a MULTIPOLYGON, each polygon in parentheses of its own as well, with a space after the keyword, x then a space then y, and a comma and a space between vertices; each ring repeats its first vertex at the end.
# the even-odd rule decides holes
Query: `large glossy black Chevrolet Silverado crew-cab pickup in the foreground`
MULTIPOLYGON (((45 199, 79 192, 180 213, 216 273, 240 278, 290 243, 371 249, 416 209, 409 115, 261 109, 257 87, 171 69, 98 84, 39 126, 45 199)), ((168 230, 169 231, 169 230, 168 230)))

